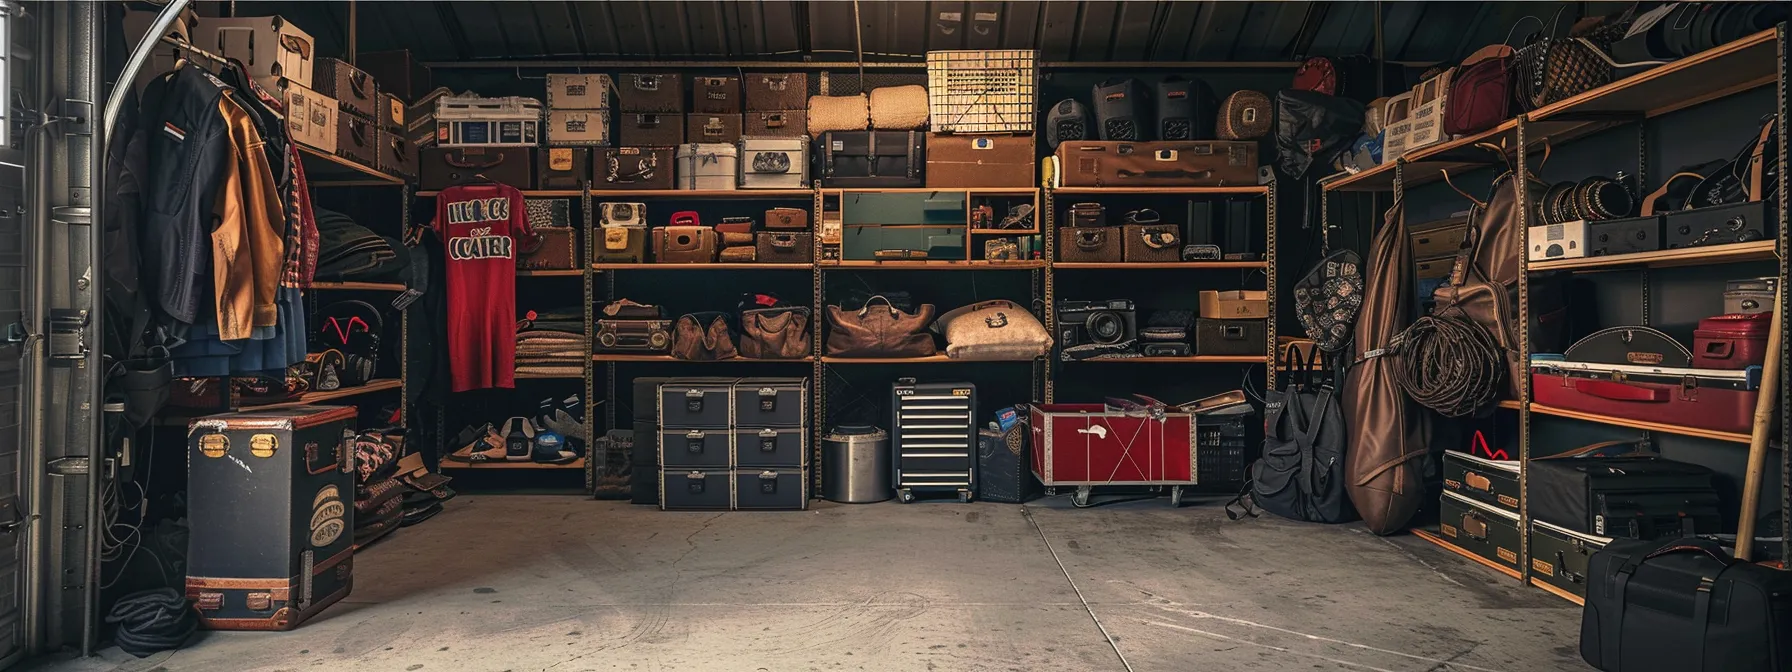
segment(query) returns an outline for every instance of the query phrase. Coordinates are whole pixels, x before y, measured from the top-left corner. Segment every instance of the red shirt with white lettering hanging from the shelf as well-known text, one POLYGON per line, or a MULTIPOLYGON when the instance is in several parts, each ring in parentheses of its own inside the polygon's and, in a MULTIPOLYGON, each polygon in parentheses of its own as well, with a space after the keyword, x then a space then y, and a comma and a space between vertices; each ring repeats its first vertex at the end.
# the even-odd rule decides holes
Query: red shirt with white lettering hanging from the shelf
POLYGON ((523 194, 461 185, 435 195, 448 258, 448 362, 455 392, 516 387, 516 254, 539 246, 523 194))

